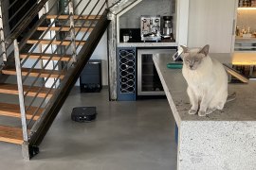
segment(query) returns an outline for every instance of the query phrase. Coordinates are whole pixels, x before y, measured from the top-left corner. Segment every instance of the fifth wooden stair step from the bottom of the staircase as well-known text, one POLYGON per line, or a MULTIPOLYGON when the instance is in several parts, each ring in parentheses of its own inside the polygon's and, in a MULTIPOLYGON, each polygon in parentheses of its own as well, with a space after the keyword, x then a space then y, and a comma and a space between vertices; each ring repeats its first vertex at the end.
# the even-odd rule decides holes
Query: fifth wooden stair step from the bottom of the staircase
MULTIPOLYGON (((20 58, 21 59, 26 59, 27 58, 27 53, 25 54, 21 54, 20 58)), ((71 59, 71 55, 58 55, 58 54, 44 54, 42 55, 41 53, 31 53, 30 56, 28 57, 29 59, 39 59, 41 56, 41 59, 50 59, 51 60, 63 60, 63 61, 68 61, 69 59, 71 59)))

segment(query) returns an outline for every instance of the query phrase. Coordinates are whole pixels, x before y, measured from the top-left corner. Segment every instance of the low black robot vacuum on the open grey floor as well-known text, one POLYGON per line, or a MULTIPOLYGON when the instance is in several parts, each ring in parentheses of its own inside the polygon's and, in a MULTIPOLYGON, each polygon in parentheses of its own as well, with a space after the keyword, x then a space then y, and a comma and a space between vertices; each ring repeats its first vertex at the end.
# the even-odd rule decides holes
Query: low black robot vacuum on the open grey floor
POLYGON ((71 112, 71 119, 75 122, 91 122, 96 119, 96 107, 77 107, 71 112))

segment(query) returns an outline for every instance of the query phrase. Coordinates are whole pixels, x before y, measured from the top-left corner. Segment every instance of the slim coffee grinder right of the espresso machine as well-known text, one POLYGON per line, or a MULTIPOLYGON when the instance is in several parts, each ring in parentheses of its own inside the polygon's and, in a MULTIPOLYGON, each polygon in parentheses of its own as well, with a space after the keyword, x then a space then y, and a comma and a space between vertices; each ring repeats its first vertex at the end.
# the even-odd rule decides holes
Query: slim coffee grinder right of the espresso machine
POLYGON ((174 40, 173 16, 163 16, 163 21, 162 37, 174 40))

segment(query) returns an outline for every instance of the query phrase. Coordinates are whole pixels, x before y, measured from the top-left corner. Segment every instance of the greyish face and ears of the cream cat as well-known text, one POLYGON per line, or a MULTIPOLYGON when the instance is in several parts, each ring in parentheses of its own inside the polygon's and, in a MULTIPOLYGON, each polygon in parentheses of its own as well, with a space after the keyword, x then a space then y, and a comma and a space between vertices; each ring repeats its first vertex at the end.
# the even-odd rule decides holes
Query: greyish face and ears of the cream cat
POLYGON ((203 59, 209 53, 209 45, 204 46, 202 49, 197 51, 190 51, 187 47, 181 46, 183 48, 183 64, 190 70, 196 70, 200 64, 202 64, 203 59))

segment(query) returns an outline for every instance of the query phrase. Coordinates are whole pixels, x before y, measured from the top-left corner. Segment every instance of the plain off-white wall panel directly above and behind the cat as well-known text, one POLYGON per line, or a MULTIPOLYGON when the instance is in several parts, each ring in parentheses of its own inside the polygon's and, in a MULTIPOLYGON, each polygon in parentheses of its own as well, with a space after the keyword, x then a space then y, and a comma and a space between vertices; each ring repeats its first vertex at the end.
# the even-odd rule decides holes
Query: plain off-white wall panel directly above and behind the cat
POLYGON ((235 3, 236 0, 191 0, 188 46, 210 44, 210 52, 231 52, 235 3))

